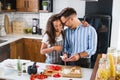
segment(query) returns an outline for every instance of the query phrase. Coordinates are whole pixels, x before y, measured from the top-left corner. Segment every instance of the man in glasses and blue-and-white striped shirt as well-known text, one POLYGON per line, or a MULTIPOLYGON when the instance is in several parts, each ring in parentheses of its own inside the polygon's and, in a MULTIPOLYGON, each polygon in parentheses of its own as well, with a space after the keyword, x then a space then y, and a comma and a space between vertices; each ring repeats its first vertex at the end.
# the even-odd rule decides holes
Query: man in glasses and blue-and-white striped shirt
POLYGON ((60 13, 60 20, 68 28, 65 30, 62 60, 69 65, 90 66, 90 57, 95 54, 97 33, 92 26, 83 27, 73 8, 67 7, 60 13))

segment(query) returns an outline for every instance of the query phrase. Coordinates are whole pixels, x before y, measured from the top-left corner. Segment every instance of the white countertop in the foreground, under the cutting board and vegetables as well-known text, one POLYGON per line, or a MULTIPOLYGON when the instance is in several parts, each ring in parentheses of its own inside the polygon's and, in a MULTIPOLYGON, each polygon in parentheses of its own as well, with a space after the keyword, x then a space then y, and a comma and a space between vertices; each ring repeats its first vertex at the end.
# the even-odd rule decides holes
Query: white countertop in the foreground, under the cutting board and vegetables
MULTIPOLYGON (((21 61, 22 63, 26 63, 26 66, 28 65, 32 65, 33 62, 29 62, 28 60, 24 60, 24 61, 21 61)), ((4 73, 2 75, 0 75, 0 79, 6 79, 6 80, 30 80, 30 75, 28 75, 27 73, 26 74, 23 74, 21 76, 18 76, 18 73, 17 73, 17 70, 15 70, 16 68, 9 68, 9 67, 6 67, 5 65, 7 64, 17 64, 17 60, 16 59, 7 59, 3 62, 0 63, 0 68, 3 68, 5 70, 2 70, 4 71, 4 73)), ((38 67, 38 72, 41 72, 45 69, 46 65, 50 65, 50 64, 46 64, 46 63, 37 63, 37 66, 38 67), (41 66, 42 65, 42 66, 41 66)), ((66 77, 62 77, 61 80, 90 80, 90 77, 91 77, 91 74, 92 74, 92 71, 93 69, 89 69, 89 68, 81 68, 82 70, 82 77, 81 78, 66 78, 66 77)), ((48 77, 47 79, 45 80, 52 80, 52 77, 48 77)))

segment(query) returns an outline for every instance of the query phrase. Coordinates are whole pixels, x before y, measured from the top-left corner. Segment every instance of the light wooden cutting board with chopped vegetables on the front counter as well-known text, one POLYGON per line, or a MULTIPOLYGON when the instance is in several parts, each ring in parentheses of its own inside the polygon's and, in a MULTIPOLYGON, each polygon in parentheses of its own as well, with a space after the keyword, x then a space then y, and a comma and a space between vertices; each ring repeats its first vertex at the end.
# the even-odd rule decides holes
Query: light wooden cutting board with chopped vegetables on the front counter
POLYGON ((47 65, 46 70, 44 70, 44 74, 48 76, 52 76, 55 73, 61 73, 63 77, 69 77, 69 78, 82 77, 81 67, 79 66, 60 66, 61 67, 60 70, 52 70, 48 66, 51 65, 47 65))

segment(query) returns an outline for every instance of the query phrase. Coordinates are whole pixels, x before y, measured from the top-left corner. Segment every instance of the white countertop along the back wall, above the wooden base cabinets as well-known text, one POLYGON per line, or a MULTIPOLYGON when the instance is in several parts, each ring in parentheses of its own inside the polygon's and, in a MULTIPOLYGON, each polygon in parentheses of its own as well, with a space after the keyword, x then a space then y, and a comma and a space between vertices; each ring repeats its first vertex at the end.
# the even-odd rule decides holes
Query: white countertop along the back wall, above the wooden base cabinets
POLYGON ((6 36, 0 36, 0 40, 6 40, 5 42, 0 43, 0 47, 7 45, 11 42, 17 41, 22 38, 31 38, 31 39, 42 39, 42 35, 38 34, 9 34, 6 36))

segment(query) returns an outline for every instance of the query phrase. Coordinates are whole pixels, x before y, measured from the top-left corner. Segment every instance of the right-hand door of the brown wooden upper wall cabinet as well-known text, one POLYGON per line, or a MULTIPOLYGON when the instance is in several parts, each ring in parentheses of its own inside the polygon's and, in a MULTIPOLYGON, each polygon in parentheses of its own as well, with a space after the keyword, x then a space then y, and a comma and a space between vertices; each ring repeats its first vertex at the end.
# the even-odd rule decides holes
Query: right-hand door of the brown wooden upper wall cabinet
POLYGON ((27 11, 28 12, 38 12, 39 1, 38 0, 26 0, 27 1, 27 11))

